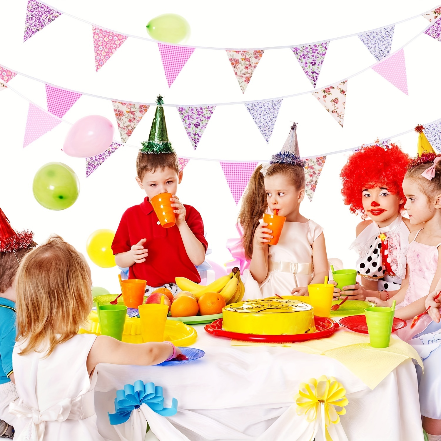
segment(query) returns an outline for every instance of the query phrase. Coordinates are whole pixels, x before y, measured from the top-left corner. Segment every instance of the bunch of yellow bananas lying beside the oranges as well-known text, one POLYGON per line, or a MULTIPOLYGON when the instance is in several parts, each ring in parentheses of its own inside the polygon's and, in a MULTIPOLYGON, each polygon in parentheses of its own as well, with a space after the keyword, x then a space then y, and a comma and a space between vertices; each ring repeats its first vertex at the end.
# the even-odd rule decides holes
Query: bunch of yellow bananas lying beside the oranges
POLYGON ((199 297, 206 292, 218 292, 225 299, 227 305, 240 302, 245 294, 245 286, 240 280, 240 271, 237 267, 233 268, 228 276, 219 277, 207 286, 194 283, 185 277, 176 277, 176 285, 183 291, 190 291, 196 296, 196 300, 199 300, 199 297))

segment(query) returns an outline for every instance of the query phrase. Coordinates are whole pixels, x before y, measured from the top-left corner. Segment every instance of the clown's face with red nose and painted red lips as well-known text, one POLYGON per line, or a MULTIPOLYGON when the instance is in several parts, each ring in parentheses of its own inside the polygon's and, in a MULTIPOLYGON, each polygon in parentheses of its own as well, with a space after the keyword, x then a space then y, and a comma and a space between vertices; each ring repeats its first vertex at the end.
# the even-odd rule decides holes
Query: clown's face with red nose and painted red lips
POLYGON ((404 200, 387 187, 364 188, 362 194, 364 212, 379 227, 391 224, 400 214, 400 204, 404 200))

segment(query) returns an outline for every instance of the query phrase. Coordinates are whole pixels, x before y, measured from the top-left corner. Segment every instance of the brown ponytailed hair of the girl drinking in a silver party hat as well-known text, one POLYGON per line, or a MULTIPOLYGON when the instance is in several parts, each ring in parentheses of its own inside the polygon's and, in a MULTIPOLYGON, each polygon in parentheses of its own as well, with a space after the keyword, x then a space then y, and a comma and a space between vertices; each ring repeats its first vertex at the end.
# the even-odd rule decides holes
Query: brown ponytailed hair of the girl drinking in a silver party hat
MULTIPOLYGON (((264 176, 260 172, 262 165, 254 170, 243 193, 242 206, 240 207, 237 221, 243 228, 242 245, 247 258, 253 254, 254 231, 258 227, 259 219, 268 208, 265 194, 264 176)), ((271 164, 265 176, 284 175, 295 188, 301 190, 305 188, 306 178, 304 168, 293 164, 271 164)))

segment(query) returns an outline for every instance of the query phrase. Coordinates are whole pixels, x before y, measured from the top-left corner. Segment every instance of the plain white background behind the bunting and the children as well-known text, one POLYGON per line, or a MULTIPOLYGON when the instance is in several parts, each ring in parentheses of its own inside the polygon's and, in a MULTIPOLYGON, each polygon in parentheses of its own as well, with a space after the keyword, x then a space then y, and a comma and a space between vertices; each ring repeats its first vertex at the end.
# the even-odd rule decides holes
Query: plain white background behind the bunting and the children
MULTIPOLYGON (((50 0, 61 11, 122 33, 148 37, 149 19, 174 12, 190 23, 187 44, 221 48, 260 48, 299 45, 385 26, 419 15, 436 6, 434 1, 351 0, 315 2, 176 0, 124 2, 116 0, 50 0)), ((112 58, 95 72, 90 24, 62 15, 23 43, 26 1, 3 1, 0 8, 0 64, 62 88, 128 102, 153 102, 158 93, 166 104, 213 104, 273 98, 312 90, 290 49, 266 50, 250 85, 241 93, 223 50, 196 49, 171 88, 168 88, 157 45, 128 38, 112 58)), ((392 52, 428 26, 422 18, 395 28, 392 52)), ((196 151, 183 129, 176 108, 166 107, 169 138, 178 155, 205 159, 265 160, 280 150, 292 121, 299 123, 302 156, 320 155, 371 143, 376 138, 413 129, 441 117, 438 72, 441 43, 419 35, 404 49, 409 95, 396 89, 371 69, 348 81, 344 128, 329 116, 310 93, 284 99, 267 145, 244 105, 217 106, 196 151), (435 98, 435 99, 434 99, 435 98)), ((343 80, 374 64, 375 59, 358 37, 331 41, 318 87, 343 80)), ((24 97, 47 108, 44 82, 17 75, 9 85, 24 97)), ((142 201, 135 182, 135 158, 140 142, 148 138, 154 108, 138 124, 127 145, 116 151, 88 179, 85 160, 65 155, 61 148, 68 123, 22 148, 28 101, 14 91, 0 93, 0 207, 17 229, 30 228, 37 242, 57 233, 85 253, 86 239, 98 228, 116 230, 121 214, 142 201), (32 194, 38 168, 60 161, 75 170, 81 191, 69 209, 51 211, 32 194)), ((115 125, 112 103, 83 95, 66 113, 74 123, 82 116, 99 114, 115 125)), ((416 153, 417 135, 392 138, 409 154, 416 153)), ((313 202, 302 203, 302 213, 325 228, 328 256, 352 267, 348 251, 359 217, 351 215, 340 195, 339 172, 348 153, 329 155, 313 202)), ((184 170, 178 195, 198 209, 205 223, 209 256, 220 264, 230 260, 225 248, 236 237, 238 213, 221 166, 217 161, 192 160, 184 170)), ((172 253, 173 250, 170 250, 172 253)), ((158 263, 160 264, 160 263, 158 263)), ((117 268, 101 269, 90 262, 93 284, 117 292, 117 268)), ((119 292, 119 291, 118 291, 119 292)))

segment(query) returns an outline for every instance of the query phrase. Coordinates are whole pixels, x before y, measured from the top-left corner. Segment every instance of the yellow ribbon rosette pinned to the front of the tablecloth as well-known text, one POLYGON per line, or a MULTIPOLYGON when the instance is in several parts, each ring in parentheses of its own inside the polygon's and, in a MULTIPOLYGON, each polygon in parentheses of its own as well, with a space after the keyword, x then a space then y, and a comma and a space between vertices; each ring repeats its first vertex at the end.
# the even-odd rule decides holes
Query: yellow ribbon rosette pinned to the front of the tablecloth
POLYGON ((314 422, 317 419, 321 406, 321 419, 325 427, 331 423, 340 422, 340 415, 346 413, 344 406, 349 402, 343 385, 336 378, 328 378, 325 375, 318 379, 310 378, 307 383, 301 383, 299 393, 294 398, 297 404, 297 415, 304 414, 307 422, 314 422))

